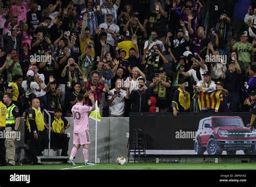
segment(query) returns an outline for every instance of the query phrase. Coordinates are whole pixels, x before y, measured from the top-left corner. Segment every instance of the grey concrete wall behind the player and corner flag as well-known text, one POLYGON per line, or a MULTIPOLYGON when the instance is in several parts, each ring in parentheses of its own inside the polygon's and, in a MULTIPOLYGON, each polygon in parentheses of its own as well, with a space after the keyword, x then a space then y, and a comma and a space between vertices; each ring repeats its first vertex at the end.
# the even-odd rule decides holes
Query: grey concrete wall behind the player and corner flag
MULTIPOLYGON (((70 133, 69 151, 73 147, 73 118, 66 118, 71 127, 66 130, 66 133, 70 133)), ((23 123, 24 124, 24 123, 23 123)), ((22 124, 21 124, 22 125, 22 124)), ((90 139, 91 145, 89 148, 89 160, 95 162, 95 120, 89 118, 90 126, 90 139)), ((102 118, 97 122, 97 159, 100 163, 113 163, 116 162, 118 156, 127 157, 127 134, 129 133, 129 118, 102 118)), ((24 133, 23 133, 24 134, 24 133)), ((51 150, 50 156, 60 155, 61 151, 54 152, 51 150)), ((44 150, 44 155, 48 155, 48 151, 44 150)), ((83 149, 80 147, 76 154, 76 163, 83 163, 83 149)))

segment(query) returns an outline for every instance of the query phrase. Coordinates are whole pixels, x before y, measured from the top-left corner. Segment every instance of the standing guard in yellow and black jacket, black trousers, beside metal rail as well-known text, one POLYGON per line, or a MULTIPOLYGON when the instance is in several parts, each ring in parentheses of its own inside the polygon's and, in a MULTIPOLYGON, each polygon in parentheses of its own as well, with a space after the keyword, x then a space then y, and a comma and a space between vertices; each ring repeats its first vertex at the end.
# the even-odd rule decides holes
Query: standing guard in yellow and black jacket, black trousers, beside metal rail
POLYGON ((48 148, 49 138, 45 132, 43 114, 39 109, 39 99, 32 100, 32 108, 28 113, 26 125, 28 126, 29 135, 29 153, 32 165, 42 165, 37 161, 37 156, 42 156, 42 151, 48 148))

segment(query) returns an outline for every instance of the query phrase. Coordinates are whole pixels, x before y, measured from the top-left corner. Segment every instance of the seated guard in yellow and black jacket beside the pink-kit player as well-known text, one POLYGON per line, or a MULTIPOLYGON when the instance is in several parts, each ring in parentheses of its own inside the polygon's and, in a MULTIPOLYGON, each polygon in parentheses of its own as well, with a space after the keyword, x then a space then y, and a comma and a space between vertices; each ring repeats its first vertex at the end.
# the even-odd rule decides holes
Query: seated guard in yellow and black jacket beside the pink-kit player
POLYGON ((62 149, 61 156, 69 156, 69 137, 65 130, 70 127, 68 120, 62 117, 62 110, 55 111, 54 118, 51 119, 51 147, 53 150, 62 149))

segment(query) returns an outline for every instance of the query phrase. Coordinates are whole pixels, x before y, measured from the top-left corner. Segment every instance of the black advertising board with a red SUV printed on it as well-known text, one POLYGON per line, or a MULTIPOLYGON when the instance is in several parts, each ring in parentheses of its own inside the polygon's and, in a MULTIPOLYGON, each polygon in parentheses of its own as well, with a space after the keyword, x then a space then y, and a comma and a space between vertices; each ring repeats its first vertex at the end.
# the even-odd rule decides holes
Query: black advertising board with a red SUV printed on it
POLYGON ((188 155, 256 154, 250 113, 134 113, 130 131, 142 128, 147 153, 188 155), (167 116, 166 116, 167 115, 167 116))

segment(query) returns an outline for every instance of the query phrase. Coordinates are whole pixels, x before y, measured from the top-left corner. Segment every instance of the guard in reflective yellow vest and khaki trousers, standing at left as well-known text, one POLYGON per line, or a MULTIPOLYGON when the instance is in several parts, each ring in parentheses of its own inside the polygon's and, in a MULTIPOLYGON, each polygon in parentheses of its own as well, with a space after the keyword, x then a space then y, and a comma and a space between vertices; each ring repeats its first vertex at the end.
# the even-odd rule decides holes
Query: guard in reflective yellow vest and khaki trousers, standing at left
POLYGON ((14 166, 15 165, 15 133, 18 130, 21 117, 19 116, 18 107, 12 103, 11 93, 4 93, 4 103, 7 106, 6 112, 6 122, 5 122, 5 147, 6 147, 6 165, 14 166))

